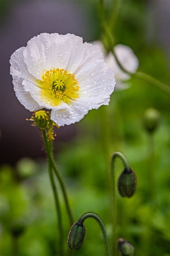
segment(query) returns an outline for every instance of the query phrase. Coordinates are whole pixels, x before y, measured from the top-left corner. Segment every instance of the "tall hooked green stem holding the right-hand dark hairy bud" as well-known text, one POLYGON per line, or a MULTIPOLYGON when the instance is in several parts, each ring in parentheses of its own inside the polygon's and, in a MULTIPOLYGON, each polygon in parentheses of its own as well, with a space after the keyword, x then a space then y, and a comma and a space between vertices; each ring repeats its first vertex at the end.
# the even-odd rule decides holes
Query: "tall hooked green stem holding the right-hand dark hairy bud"
POLYGON ((110 165, 110 179, 111 179, 111 198, 112 198, 112 255, 117 252, 117 198, 116 198, 116 182, 115 182, 115 168, 114 161, 119 157, 122 160, 124 168, 130 172, 130 167, 126 157, 121 152, 114 152, 111 158, 110 165))

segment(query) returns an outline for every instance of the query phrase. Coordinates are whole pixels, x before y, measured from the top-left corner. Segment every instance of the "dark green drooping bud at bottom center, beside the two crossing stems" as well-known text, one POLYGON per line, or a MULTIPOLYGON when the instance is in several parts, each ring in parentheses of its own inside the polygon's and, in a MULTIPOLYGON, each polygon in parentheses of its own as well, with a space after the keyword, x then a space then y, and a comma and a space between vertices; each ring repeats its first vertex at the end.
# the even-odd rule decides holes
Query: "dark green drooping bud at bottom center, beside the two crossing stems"
POLYGON ((85 226, 76 222, 72 225, 69 236, 67 239, 67 244, 70 249, 79 249, 82 245, 85 236, 85 226))

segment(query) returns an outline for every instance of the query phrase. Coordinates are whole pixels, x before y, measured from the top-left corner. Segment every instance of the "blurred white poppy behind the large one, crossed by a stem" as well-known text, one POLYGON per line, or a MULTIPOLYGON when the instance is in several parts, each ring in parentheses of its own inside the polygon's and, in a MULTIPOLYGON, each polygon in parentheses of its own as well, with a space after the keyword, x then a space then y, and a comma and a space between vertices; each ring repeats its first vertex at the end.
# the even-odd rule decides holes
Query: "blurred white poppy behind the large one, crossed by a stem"
MULTIPOLYGON (((106 51, 101 41, 94 41, 92 42, 92 44, 98 47, 103 52, 105 62, 109 65, 110 68, 114 70, 114 77, 116 81, 115 89, 122 90, 128 88, 128 84, 124 84, 123 82, 127 81, 130 78, 130 75, 124 73, 119 68, 115 61, 113 53, 109 52, 108 54, 106 54, 106 51)), ((118 44, 114 46, 114 51, 122 66, 127 71, 135 73, 139 66, 139 60, 137 56, 134 54, 133 50, 127 45, 118 44)))

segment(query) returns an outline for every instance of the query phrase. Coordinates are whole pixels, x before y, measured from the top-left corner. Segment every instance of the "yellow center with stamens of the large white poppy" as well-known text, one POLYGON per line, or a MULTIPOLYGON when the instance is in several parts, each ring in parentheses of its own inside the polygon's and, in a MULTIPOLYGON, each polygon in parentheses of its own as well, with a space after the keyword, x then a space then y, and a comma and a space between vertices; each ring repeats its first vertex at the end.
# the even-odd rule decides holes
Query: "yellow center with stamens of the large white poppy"
POLYGON ((41 88, 41 101, 52 106, 58 106, 62 102, 69 104, 72 100, 79 98, 78 82, 65 69, 53 68, 47 70, 42 80, 37 80, 41 88))

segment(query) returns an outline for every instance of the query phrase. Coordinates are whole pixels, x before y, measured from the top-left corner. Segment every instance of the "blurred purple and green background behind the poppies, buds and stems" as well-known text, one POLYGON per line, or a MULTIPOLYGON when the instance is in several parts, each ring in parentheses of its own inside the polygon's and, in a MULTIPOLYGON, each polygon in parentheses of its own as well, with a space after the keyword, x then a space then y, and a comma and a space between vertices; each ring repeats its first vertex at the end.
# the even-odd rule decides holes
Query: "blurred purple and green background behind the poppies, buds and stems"
MULTIPOLYGON (((105 1, 110 15, 112 1, 105 1)), ((114 30, 116 43, 129 45, 139 70, 169 84, 169 0, 121 0, 114 30)), ((57 251, 57 224, 46 157, 31 113, 15 97, 9 74, 11 54, 42 32, 74 33, 84 41, 101 35, 96 0, 0 0, 0 255, 51 256, 57 251), (23 230, 16 237, 14 227, 23 230)), ((169 97, 151 84, 131 79, 115 91, 109 106, 92 110, 79 123, 57 130, 55 159, 67 184, 75 220, 87 211, 99 214, 111 238, 109 171, 106 159, 119 150, 138 177, 131 199, 118 197, 118 232, 138 256, 170 254, 169 97), (143 127, 147 108, 160 111, 154 152, 143 127), (110 148, 110 150, 108 149, 110 148), (155 192, 150 172, 154 173, 155 192)), ((116 164, 116 176, 122 171, 116 164)), ((63 198, 65 247, 70 229, 63 198)), ((86 221, 86 238, 74 255, 104 255, 98 225, 86 221)), ((112 241, 110 241, 111 243, 112 241)))

